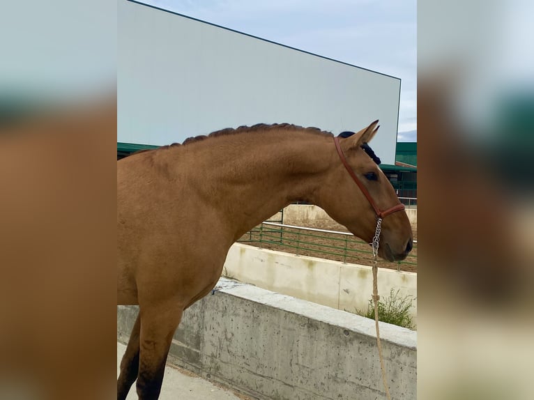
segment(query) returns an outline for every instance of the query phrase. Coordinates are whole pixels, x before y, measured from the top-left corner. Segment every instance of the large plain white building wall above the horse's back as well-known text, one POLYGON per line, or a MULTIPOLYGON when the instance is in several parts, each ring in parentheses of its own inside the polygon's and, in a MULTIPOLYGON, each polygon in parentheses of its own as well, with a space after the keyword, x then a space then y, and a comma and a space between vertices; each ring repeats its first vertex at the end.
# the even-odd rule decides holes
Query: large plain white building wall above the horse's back
POLYGON ((118 15, 117 141, 255 123, 337 134, 379 119, 372 146, 394 164, 400 79, 127 0, 118 15))

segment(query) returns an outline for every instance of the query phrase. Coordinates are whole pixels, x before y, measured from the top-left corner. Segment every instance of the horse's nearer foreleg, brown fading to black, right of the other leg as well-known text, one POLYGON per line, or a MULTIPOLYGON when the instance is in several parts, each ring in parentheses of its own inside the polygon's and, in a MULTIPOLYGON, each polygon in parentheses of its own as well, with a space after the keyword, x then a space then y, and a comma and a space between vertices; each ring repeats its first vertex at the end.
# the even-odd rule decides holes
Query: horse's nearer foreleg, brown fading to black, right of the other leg
POLYGON ((141 307, 141 336, 137 395, 139 400, 158 399, 172 337, 182 317, 176 305, 141 307))

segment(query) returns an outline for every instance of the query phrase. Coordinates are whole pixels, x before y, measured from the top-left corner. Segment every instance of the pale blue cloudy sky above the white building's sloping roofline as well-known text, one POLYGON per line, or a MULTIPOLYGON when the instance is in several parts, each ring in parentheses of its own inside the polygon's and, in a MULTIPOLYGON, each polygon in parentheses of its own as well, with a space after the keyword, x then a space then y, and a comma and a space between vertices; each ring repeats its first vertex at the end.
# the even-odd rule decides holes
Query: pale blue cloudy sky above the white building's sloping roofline
POLYGON ((415 0, 142 2, 402 79, 398 140, 417 140, 415 0))

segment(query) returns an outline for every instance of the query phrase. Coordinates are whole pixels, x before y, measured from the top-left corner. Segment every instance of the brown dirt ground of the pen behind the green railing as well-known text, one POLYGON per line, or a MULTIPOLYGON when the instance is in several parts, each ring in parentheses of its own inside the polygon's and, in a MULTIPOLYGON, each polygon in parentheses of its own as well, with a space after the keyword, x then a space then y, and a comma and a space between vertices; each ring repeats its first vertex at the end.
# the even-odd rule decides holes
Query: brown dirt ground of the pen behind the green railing
MULTIPOLYGON (((308 228, 326 229, 330 231, 347 232, 344 226, 337 224, 333 221, 317 221, 311 224, 307 224, 308 228)), ((273 226, 274 229, 280 229, 277 226, 273 226)), ((267 226, 264 225, 264 232, 262 236, 264 240, 269 240, 270 243, 262 243, 261 247, 264 249, 278 250, 280 252, 288 252, 296 254, 297 241, 299 240, 299 233, 297 229, 284 228, 282 232, 268 232, 267 226), (291 247, 293 246, 293 247, 291 247)), ((254 240, 259 240, 260 233, 254 232, 252 234, 247 233, 239 241, 241 243, 259 246, 259 243, 254 243, 254 240), (252 242, 250 242, 252 240, 252 242)), ((414 239, 417 239, 417 231, 413 232, 414 239)), ((306 244, 300 244, 298 248, 298 254, 302 256, 313 256, 321 259, 343 261, 346 263, 361 264, 364 266, 372 266, 372 249, 367 243, 363 243, 362 240, 348 237, 349 240, 345 243, 344 237, 333 233, 319 233, 314 231, 301 231, 300 240, 306 242, 306 244), (309 236, 308 236, 309 235, 309 236), (347 249, 347 255, 344 256, 343 249, 334 249, 333 247, 345 247, 347 249), (305 248, 303 248, 305 247, 305 248), (326 250, 332 254, 325 254, 318 252, 317 249, 326 250), (356 252, 356 250, 358 252, 356 252)), ((390 263, 383 259, 379 259, 378 266, 381 268, 390 268, 394 270, 401 270, 407 272, 417 272, 417 245, 414 245, 413 250, 409 256, 401 263, 390 263)))

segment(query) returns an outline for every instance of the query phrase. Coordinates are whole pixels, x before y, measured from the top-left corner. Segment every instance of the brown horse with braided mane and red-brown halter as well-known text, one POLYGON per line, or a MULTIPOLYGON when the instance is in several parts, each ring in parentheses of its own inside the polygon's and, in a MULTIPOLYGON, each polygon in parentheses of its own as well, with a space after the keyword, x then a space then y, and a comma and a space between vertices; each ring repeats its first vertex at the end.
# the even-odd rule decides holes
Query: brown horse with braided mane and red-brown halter
MULTIPOLYGON (((232 243, 280 208, 308 201, 372 240, 376 210, 402 208, 362 147, 377 123, 338 143, 328 132, 295 125, 226 129, 118 163, 118 304, 139 305, 118 399, 136 378, 139 399, 158 399, 183 310, 213 289, 232 243)), ((404 259, 412 242, 408 217, 386 214, 379 256, 404 259)))

